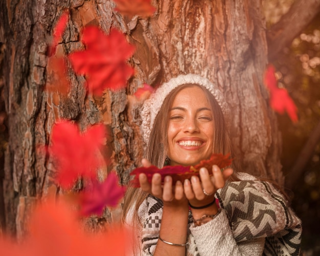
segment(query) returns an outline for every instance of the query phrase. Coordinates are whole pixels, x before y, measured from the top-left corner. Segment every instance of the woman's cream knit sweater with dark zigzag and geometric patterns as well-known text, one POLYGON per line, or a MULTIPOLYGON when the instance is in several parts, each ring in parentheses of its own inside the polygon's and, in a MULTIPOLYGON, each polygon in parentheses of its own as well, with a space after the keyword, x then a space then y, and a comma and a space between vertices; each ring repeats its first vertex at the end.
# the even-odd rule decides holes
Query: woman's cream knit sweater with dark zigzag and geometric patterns
MULTIPOLYGON (((238 174, 216 197, 221 210, 208 223, 194 226, 189 212, 187 255, 299 255, 301 221, 269 182, 238 174)), ((126 223, 136 223, 132 207, 126 223)), ((161 227, 163 203, 149 196, 134 228, 135 255, 153 255, 161 227)), ((132 255, 134 253, 128 253, 132 255)))

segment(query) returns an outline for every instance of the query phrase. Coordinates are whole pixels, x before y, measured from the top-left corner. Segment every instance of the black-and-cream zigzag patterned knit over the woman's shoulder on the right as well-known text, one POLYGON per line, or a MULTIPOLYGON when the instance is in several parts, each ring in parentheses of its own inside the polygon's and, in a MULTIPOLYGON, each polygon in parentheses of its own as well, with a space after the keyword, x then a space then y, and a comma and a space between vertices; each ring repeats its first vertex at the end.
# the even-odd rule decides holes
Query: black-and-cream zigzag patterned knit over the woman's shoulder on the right
POLYGON ((265 238, 265 255, 299 255, 301 221, 270 183, 228 182, 216 196, 237 242, 265 238))

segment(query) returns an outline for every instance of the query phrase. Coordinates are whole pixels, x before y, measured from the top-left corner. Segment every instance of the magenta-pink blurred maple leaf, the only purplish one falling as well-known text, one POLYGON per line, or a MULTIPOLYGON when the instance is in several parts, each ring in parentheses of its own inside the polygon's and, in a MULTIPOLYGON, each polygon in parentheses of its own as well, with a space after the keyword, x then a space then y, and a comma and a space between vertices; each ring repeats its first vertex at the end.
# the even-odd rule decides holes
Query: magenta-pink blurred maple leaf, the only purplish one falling
POLYGON ((80 194, 81 215, 101 215, 105 206, 117 206, 125 190, 124 186, 118 184, 117 174, 108 174, 103 183, 94 182, 80 194))

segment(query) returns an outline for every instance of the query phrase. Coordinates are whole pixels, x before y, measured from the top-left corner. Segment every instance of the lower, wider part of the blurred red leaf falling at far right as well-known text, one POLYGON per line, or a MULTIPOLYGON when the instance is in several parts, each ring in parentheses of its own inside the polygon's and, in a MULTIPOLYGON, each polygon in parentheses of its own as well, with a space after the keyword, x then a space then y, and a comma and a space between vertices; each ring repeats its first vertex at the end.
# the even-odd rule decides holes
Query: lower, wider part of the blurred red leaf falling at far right
POLYGON ((288 95, 287 90, 277 89, 270 95, 271 108, 279 114, 284 114, 286 111, 292 122, 298 121, 298 109, 296 108, 293 100, 288 95))

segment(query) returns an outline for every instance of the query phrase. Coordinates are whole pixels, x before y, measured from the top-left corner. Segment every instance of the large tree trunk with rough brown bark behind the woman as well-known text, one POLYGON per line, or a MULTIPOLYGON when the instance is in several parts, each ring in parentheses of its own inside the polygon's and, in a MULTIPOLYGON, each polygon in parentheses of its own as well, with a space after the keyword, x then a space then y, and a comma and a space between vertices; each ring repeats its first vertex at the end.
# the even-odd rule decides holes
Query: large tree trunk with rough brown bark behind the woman
MULTIPOLYGON (((5 39, 3 77, 9 143, 5 158, 6 228, 24 233, 28 209, 38 198, 58 196, 50 158, 38 150, 50 143, 58 118, 76 120, 82 129, 102 121, 110 131, 106 146, 112 166, 126 184, 143 156, 139 109, 132 94, 144 82, 157 86, 181 73, 196 73, 217 83, 232 110, 231 137, 243 171, 283 184, 280 140, 275 114, 263 86, 267 63, 265 21, 260 1, 152 1, 154 15, 132 20, 113 10, 107 0, 2 1, 5 39), (136 46, 129 61, 135 75, 126 90, 87 97, 84 78, 69 70, 68 97, 44 91, 47 44, 64 8, 70 20, 64 33, 65 53, 81 47, 79 31, 89 24, 106 33, 116 27, 136 46)), ((105 172, 101 175, 104 177, 105 172)), ((92 218, 93 226, 111 221, 109 211, 92 218)))

